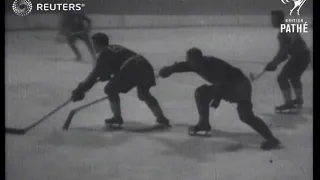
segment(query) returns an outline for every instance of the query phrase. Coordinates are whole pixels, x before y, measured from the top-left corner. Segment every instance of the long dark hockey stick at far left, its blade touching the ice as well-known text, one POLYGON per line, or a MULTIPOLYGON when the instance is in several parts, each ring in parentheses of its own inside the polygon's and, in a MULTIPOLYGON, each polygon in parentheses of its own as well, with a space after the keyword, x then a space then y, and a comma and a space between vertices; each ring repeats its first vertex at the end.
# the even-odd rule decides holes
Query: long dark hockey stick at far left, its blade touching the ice
POLYGON ((55 108, 54 110, 52 110, 51 112, 49 112, 48 114, 46 114, 45 116, 43 116, 40 120, 38 120, 37 122, 31 124, 30 126, 21 129, 21 128, 6 128, 6 133, 8 134, 16 134, 16 135, 23 135, 25 133, 27 133, 29 130, 33 129, 34 127, 36 127, 37 125, 39 125, 41 122, 43 122, 44 120, 46 120, 48 117, 50 117, 52 114, 56 113, 57 111, 59 111, 61 108, 65 107, 67 104, 69 104, 71 102, 71 99, 68 99, 66 102, 64 102, 63 104, 61 104, 60 106, 58 106, 57 108, 55 108))

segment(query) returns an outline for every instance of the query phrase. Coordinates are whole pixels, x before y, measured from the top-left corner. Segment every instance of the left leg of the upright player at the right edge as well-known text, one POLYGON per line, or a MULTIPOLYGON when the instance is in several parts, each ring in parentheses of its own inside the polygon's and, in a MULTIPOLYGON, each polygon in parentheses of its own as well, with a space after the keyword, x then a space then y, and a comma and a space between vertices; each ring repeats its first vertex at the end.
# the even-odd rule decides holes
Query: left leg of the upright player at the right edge
POLYGON ((291 86, 289 81, 290 71, 291 63, 288 62, 278 75, 278 84, 283 95, 284 104, 277 106, 276 111, 291 109, 293 107, 291 86))

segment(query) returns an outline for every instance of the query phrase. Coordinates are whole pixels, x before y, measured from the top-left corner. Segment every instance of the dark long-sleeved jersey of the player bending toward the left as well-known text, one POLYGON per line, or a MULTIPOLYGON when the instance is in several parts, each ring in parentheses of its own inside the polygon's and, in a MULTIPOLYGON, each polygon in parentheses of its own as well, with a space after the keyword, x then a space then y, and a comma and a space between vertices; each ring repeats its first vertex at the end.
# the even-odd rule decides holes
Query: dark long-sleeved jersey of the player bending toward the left
POLYGON ((120 45, 109 45, 99 55, 89 76, 81 83, 83 91, 91 89, 97 81, 106 81, 116 75, 124 63, 137 53, 120 45))

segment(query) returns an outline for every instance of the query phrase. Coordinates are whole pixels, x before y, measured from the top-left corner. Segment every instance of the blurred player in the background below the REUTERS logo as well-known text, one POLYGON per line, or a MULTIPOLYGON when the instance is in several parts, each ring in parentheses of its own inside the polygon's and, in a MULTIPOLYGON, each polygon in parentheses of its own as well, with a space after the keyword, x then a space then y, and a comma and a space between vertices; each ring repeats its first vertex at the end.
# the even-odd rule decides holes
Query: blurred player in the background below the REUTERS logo
MULTIPOLYGON (((59 36, 64 36, 68 45, 76 55, 75 60, 81 61, 82 56, 76 46, 77 40, 82 40, 89 49, 89 52, 96 61, 96 55, 90 41, 91 20, 80 12, 64 12, 60 19, 59 36)), ((94 63, 93 63, 94 64, 94 63)))

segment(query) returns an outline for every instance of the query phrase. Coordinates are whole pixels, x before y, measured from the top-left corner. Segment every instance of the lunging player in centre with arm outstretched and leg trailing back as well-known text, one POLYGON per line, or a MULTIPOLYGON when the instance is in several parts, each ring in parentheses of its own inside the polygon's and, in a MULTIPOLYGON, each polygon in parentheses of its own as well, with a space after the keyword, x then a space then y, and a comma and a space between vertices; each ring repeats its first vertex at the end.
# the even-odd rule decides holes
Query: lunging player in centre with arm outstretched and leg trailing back
POLYGON ((273 149, 280 145, 279 140, 273 136, 268 126, 254 115, 251 83, 240 69, 218 58, 203 56, 201 50, 197 48, 189 49, 186 59, 186 62, 178 62, 162 68, 159 75, 167 78, 175 72, 195 72, 211 83, 211 85, 202 85, 195 91, 195 101, 200 118, 197 125, 189 128, 190 133, 211 130, 209 106, 217 108, 223 99, 236 103, 240 120, 266 139, 261 144, 261 149, 273 149))

